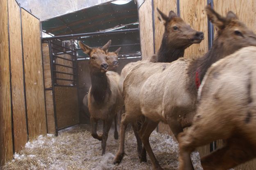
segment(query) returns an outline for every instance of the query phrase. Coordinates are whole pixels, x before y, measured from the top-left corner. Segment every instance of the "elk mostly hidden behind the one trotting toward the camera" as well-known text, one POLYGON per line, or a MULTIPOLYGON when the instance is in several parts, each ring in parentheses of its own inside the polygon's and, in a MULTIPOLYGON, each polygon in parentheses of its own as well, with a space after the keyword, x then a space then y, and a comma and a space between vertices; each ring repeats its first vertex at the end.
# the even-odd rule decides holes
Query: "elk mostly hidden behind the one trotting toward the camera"
MULTIPOLYGON (((111 40, 109 40, 108 43, 111 43, 111 40)), ((107 52, 106 55, 108 56, 106 59, 106 63, 109 65, 108 70, 109 71, 115 71, 116 68, 118 67, 118 53, 120 51, 121 47, 119 47, 116 51, 114 52, 107 52)), ((88 112, 88 94, 84 95, 83 98, 83 110, 84 112, 88 112)), ((115 122, 115 131, 114 131, 114 138, 117 140, 118 139, 118 131, 117 131, 117 118, 118 116, 116 115, 114 122, 115 122)))

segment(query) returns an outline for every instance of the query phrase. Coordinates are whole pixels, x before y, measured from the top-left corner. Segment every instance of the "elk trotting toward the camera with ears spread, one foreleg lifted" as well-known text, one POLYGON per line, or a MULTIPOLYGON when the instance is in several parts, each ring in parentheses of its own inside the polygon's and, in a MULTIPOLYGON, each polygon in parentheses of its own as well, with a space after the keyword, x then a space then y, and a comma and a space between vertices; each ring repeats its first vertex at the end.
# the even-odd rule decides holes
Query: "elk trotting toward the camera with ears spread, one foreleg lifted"
POLYGON ((91 114, 91 135, 101 141, 102 155, 104 155, 112 121, 123 105, 122 95, 118 88, 120 76, 116 72, 108 71, 107 49, 110 46, 110 42, 102 48, 95 49, 91 49, 80 41, 79 46, 90 57, 91 87, 88 92, 88 108, 91 114), (103 121, 102 135, 97 134, 97 122, 99 119, 103 121))

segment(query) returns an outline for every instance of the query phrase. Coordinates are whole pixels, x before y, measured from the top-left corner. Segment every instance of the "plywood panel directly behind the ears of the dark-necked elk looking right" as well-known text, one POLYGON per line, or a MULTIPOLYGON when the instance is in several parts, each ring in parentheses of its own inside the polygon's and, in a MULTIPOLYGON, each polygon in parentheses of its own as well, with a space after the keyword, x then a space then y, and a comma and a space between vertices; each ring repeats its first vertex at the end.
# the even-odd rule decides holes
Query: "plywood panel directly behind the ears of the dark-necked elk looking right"
POLYGON ((159 14, 156 8, 159 8, 165 15, 169 15, 170 11, 177 13, 177 0, 154 0, 155 46, 157 52, 161 46, 165 27, 158 19, 159 14))

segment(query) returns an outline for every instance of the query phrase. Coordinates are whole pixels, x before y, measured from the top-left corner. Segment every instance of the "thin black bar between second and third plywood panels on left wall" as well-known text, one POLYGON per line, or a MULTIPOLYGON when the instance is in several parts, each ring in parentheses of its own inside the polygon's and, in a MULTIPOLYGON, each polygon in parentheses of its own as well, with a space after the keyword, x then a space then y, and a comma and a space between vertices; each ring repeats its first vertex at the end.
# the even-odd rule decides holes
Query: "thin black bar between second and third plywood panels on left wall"
MULTIPOLYGON (((20 4, 19 4, 20 5, 20 4)), ((24 102, 25 102, 25 115, 27 123, 27 141, 29 140, 29 130, 27 121, 27 95, 26 95, 26 80, 25 80, 25 64, 24 64, 24 51, 23 51, 23 29, 22 29, 22 17, 20 8, 20 29, 21 29, 21 47, 22 47, 22 67, 23 67, 23 88, 24 88, 24 102)))

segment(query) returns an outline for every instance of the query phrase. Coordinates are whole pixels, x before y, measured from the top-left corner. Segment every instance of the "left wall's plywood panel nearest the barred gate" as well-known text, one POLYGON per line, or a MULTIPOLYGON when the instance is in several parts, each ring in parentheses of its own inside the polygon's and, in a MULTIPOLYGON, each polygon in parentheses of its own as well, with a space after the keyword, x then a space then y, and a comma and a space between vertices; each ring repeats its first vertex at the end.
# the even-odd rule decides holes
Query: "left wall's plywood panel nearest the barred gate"
POLYGON ((21 10, 29 137, 46 134, 40 22, 21 10))

